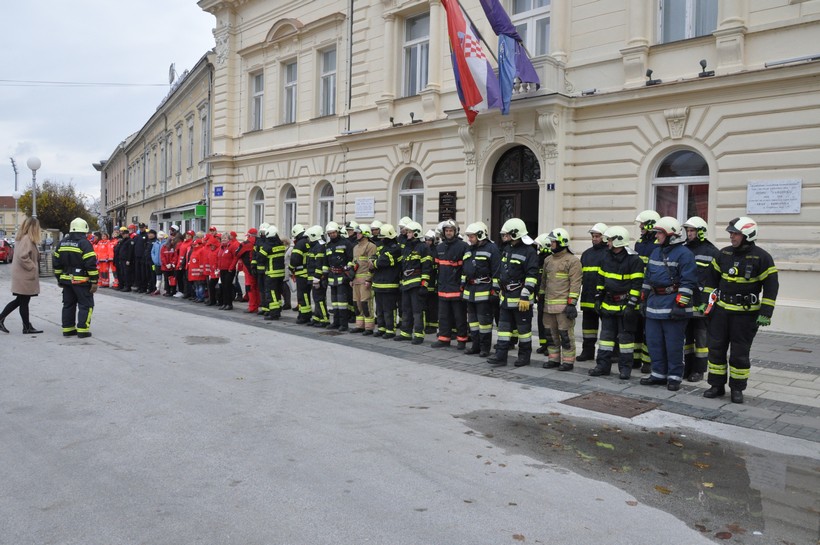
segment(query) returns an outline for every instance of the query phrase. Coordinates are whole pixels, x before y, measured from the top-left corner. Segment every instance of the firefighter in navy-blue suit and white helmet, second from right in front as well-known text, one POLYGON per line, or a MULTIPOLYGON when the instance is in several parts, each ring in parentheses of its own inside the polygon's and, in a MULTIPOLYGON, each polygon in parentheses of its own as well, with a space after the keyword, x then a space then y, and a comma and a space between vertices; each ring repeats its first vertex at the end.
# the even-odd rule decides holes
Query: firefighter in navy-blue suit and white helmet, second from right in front
POLYGON ((652 373, 645 386, 666 385, 680 390, 683 342, 692 317, 692 297, 698 287, 695 256, 683 246, 685 231, 678 220, 664 216, 653 228, 657 243, 644 271, 641 300, 646 314, 646 342, 652 373))

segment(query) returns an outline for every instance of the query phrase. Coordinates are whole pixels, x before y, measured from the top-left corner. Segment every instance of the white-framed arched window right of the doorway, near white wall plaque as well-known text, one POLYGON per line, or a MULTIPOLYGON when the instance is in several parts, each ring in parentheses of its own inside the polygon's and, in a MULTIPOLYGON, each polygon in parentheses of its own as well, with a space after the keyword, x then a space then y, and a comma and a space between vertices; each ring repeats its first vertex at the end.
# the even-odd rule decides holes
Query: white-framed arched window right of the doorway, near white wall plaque
POLYGON ((652 180, 655 210, 686 221, 709 214, 709 165, 692 150, 678 150, 661 161, 652 180))

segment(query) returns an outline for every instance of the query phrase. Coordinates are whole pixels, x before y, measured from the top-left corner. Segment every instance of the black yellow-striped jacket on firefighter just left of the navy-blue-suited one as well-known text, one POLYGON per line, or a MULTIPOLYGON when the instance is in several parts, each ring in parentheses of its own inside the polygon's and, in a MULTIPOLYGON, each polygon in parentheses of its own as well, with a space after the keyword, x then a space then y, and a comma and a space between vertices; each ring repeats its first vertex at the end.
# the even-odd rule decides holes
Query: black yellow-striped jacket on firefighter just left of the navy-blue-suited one
POLYGON ((607 250, 598 269, 595 299, 600 303, 599 314, 623 313, 627 303, 637 306, 643 285, 644 264, 640 256, 629 248, 615 253, 607 250))

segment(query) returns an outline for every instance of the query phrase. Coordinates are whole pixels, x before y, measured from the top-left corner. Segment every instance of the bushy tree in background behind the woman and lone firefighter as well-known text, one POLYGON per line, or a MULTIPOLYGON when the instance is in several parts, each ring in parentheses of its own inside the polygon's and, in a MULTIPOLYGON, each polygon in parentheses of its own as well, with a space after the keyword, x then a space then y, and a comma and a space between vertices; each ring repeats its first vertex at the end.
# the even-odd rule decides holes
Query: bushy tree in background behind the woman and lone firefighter
MULTIPOLYGON (((17 203, 25 214, 31 215, 31 189, 26 191, 17 203)), ((74 184, 61 184, 45 180, 37 186, 37 218, 44 229, 59 229, 68 232, 71 220, 83 218, 93 231, 97 229, 97 218, 85 204, 83 196, 77 193, 74 184)))

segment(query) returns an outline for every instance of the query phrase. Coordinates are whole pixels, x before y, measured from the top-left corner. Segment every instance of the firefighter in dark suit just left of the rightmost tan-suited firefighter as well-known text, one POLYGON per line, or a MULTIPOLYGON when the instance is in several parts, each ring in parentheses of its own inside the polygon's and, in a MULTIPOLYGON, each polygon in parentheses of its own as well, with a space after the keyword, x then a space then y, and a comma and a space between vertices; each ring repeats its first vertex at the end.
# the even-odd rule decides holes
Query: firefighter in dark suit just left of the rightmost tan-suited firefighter
POLYGON ((527 226, 519 218, 511 218, 501 227, 501 239, 507 242, 501 250, 499 273, 500 313, 498 344, 495 354, 487 359, 492 367, 507 365, 507 352, 513 329, 518 331, 516 367, 530 364, 532 356, 532 303, 538 289, 538 255, 533 240, 527 236, 527 226))

